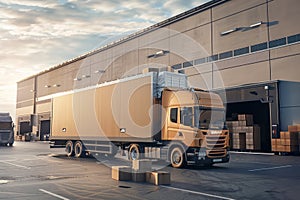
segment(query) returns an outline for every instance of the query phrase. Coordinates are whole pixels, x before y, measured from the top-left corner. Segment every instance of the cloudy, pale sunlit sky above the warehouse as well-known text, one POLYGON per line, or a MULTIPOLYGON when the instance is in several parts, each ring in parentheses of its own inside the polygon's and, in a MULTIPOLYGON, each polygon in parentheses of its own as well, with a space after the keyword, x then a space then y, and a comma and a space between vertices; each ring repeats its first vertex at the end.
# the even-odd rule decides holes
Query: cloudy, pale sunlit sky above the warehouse
POLYGON ((0 112, 16 82, 208 0, 0 0, 0 112))

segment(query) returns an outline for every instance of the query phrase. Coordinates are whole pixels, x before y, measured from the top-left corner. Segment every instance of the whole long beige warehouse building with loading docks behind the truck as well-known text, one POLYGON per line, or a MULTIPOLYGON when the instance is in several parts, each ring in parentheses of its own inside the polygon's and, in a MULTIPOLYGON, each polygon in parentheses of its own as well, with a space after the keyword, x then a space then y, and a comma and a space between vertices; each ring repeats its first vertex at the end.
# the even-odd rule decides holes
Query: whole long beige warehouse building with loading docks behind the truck
POLYGON ((300 1, 212 0, 18 82, 17 134, 44 140, 51 97, 171 67, 193 87, 218 92, 228 120, 251 114, 261 151, 300 123, 300 1), (273 129, 273 130, 272 130, 273 129))

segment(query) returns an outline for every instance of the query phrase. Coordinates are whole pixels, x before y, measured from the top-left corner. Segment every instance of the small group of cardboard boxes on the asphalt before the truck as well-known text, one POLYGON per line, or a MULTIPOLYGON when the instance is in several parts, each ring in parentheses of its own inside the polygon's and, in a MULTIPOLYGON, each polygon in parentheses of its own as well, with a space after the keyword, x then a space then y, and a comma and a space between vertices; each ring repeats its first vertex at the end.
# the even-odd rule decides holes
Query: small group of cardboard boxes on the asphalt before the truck
POLYGON ((133 160, 132 166, 113 166, 112 178, 118 181, 147 182, 168 185, 171 176, 166 171, 153 171, 151 160, 133 160))

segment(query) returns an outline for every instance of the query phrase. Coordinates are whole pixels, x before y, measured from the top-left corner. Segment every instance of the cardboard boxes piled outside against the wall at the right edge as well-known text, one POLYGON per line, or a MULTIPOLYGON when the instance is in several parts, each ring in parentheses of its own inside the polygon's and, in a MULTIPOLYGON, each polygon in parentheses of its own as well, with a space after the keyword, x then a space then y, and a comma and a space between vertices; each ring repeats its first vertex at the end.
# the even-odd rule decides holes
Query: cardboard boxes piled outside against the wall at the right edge
POLYGON ((280 138, 272 139, 274 152, 299 152, 300 125, 288 126, 288 131, 280 132, 280 138))

